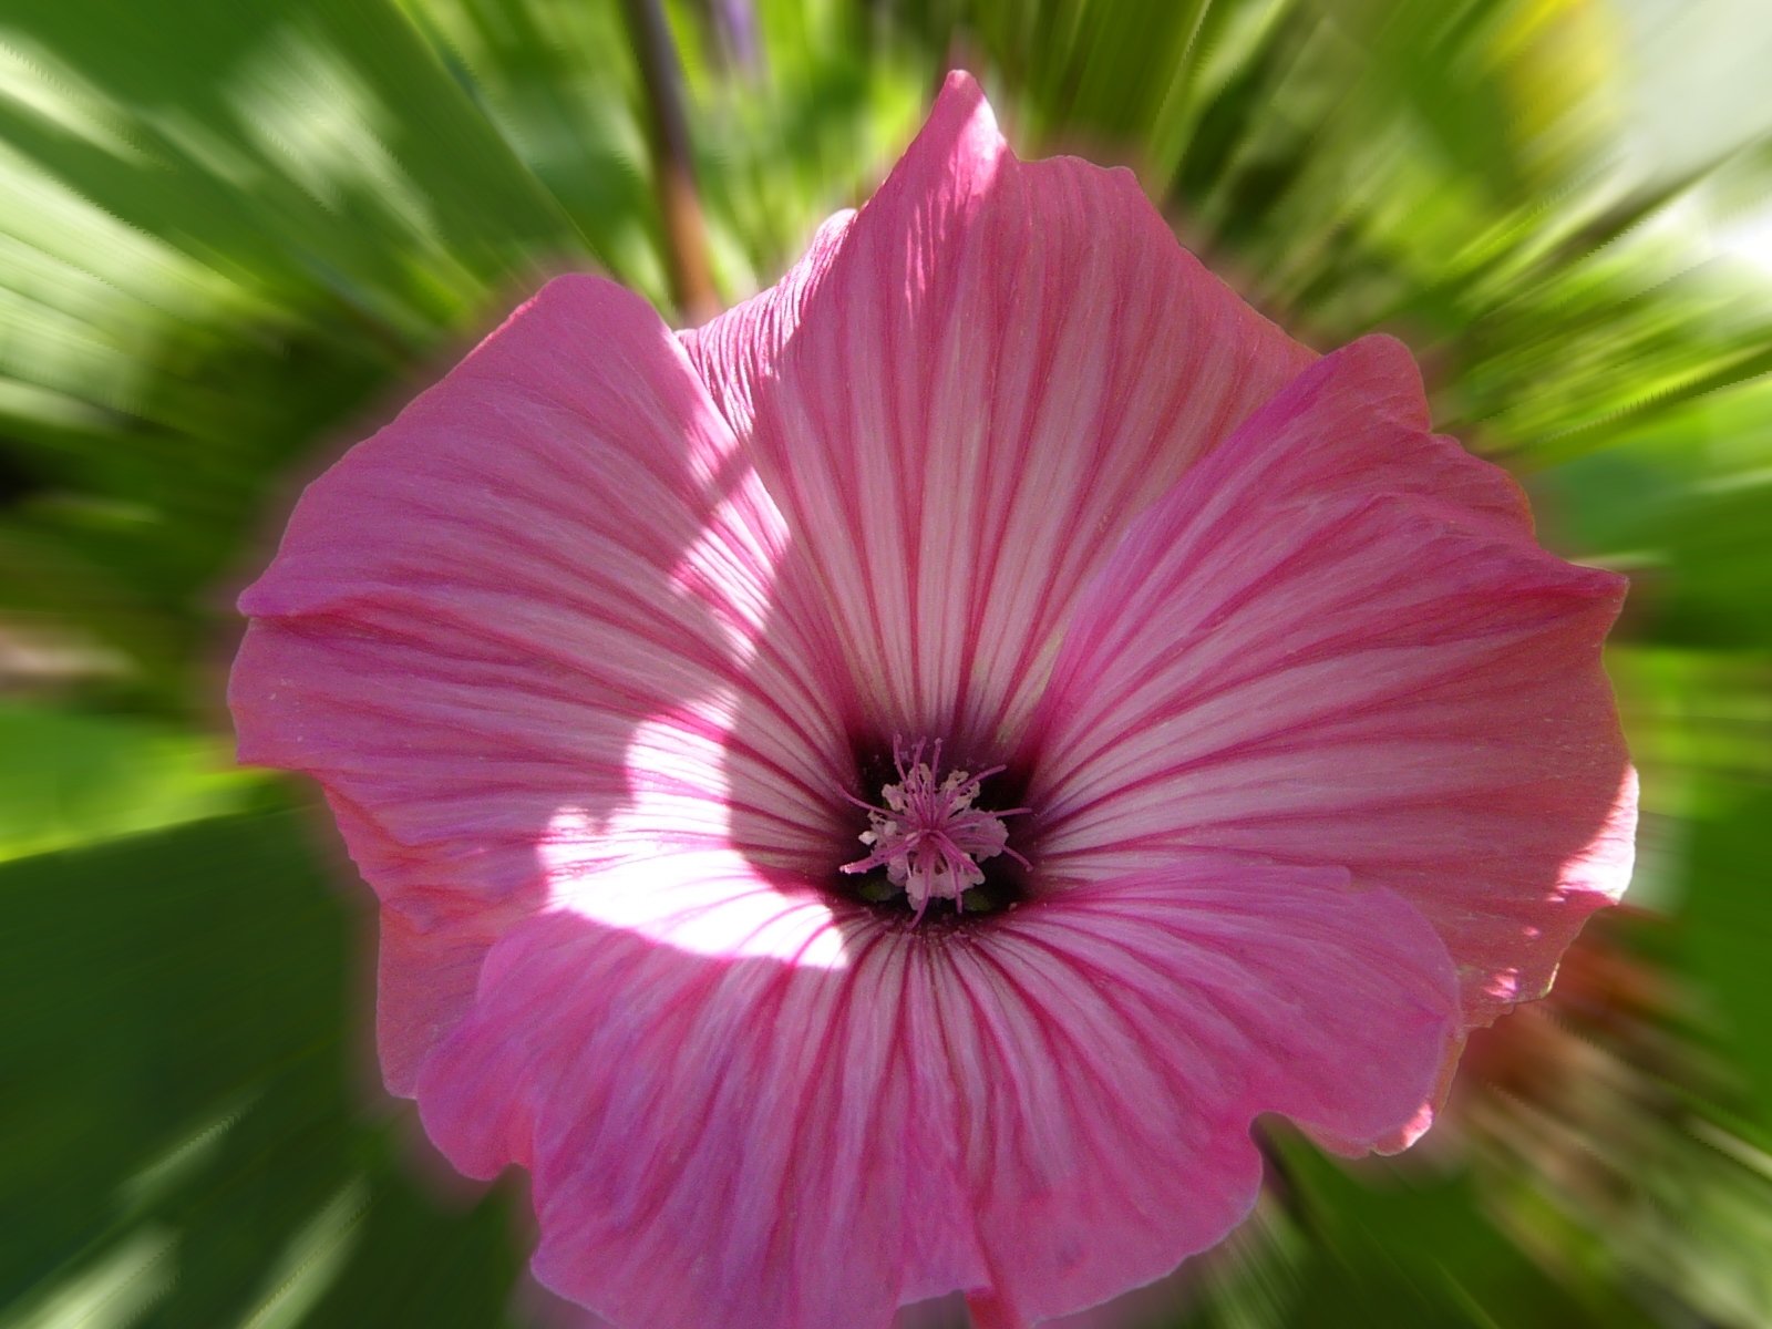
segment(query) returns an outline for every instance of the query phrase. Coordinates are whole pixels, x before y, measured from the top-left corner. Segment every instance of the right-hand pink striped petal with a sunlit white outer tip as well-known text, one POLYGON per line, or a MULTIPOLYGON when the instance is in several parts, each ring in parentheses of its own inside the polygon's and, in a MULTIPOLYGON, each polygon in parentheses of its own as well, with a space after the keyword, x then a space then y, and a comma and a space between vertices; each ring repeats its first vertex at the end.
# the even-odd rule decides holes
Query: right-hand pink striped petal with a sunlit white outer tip
POLYGON ((1435 925, 1480 1024, 1628 879, 1600 668, 1623 579, 1540 549, 1512 482, 1384 408, 1387 379, 1416 385, 1395 344, 1324 358, 1129 533, 1028 801, 1056 881, 1185 847, 1345 865, 1435 925))

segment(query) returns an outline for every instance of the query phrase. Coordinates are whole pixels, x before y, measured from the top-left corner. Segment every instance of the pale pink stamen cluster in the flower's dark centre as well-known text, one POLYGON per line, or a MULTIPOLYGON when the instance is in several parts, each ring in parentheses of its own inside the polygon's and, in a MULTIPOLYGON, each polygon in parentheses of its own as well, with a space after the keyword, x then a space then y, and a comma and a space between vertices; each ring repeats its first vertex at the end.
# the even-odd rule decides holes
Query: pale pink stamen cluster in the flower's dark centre
POLYGON ((921 921, 930 900, 952 900, 957 913, 966 913, 968 891, 985 879, 978 868, 982 859, 1008 854, 1028 867, 1028 859, 1008 847, 1008 828, 1003 826, 1005 817, 1022 813, 1026 808, 987 812, 973 806, 980 783, 1001 771, 1001 766, 978 774, 969 771, 943 774, 939 741, 934 744, 920 741, 907 753, 893 739, 891 758, 898 769, 898 781, 881 789, 884 806, 845 794, 868 813, 868 829, 861 833, 868 856, 843 863, 842 870, 886 868, 886 882, 872 890, 865 886, 863 898, 884 900, 902 891, 916 911, 914 921, 921 921), (932 746, 927 762, 925 746, 932 746))

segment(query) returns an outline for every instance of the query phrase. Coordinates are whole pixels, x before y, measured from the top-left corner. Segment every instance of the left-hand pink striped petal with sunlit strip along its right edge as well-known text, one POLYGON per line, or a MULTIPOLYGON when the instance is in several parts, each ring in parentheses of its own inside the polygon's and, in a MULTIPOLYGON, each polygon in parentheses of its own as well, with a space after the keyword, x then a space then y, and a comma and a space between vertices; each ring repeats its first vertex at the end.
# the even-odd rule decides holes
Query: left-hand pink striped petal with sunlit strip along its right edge
POLYGON ((317 776, 402 914, 395 1084, 471 991, 489 937, 462 911, 503 927, 546 898, 562 817, 664 790, 700 826, 742 778, 758 854, 828 843, 847 771, 774 624, 785 539, 677 340, 595 278, 549 284, 307 489, 241 597, 230 705, 241 760, 317 776), (769 719, 742 739, 741 703, 769 719), (432 944, 450 982, 402 976, 432 944))

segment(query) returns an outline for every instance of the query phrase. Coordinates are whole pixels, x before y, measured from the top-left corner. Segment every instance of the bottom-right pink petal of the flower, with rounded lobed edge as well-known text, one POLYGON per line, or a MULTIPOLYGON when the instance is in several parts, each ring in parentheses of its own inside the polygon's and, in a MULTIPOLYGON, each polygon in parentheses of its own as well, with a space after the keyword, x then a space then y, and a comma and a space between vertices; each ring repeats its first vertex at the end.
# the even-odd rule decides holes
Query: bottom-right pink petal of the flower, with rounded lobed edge
POLYGON ((946 1028, 1003 1324, 1219 1242, 1260 1189, 1262 1113, 1354 1145, 1414 1115, 1457 1033, 1451 960, 1414 909, 1345 881, 1184 858, 1022 905, 955 957, 946 1028))

